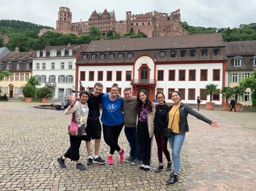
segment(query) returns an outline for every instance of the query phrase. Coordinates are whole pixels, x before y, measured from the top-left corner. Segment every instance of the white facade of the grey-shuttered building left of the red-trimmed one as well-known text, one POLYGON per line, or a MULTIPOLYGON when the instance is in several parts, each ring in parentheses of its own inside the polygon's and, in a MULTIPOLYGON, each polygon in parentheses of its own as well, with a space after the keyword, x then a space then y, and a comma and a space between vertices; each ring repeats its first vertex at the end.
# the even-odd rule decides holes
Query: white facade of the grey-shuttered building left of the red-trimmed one
POLYGON ((41 83, 37 88, 52 88, 54 100, 63 100, 65 96, 72 95, 69 91, 75 85, 75 62, 75 56, 33 59, 32 74, 41 83))

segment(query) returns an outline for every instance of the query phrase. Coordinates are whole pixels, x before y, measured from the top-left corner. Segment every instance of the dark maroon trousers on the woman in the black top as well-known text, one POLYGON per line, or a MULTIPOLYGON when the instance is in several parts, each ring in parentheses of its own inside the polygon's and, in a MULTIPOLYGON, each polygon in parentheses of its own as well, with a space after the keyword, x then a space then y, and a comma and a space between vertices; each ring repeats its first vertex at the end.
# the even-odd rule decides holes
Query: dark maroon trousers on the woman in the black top
POLYGON ((168 137, 159 135, 159 134, 154 134, 155 135, 155 141, 157 143, 157 156, 159 163, 163 163, 163 153, 165 154, 165 157, 168 162, 171 161, 170 157, 170 152, 167 149, 167 142, 168 142, 168 137))

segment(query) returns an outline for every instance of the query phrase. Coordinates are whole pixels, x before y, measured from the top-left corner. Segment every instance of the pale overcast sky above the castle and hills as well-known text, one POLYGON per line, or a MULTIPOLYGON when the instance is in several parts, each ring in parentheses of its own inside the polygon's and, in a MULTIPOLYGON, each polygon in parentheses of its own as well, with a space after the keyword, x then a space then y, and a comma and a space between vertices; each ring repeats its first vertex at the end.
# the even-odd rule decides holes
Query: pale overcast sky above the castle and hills
POLYGON ((190 26, 238 28, 256 23, 256 0, 0 0, 0 20, 21 20, 56 28, 58 11, 67 6, 72 22, 88 21, 91 13, 115 10, 116 20, 132 14, 171 12, 180 9, 181 21, 190 26))

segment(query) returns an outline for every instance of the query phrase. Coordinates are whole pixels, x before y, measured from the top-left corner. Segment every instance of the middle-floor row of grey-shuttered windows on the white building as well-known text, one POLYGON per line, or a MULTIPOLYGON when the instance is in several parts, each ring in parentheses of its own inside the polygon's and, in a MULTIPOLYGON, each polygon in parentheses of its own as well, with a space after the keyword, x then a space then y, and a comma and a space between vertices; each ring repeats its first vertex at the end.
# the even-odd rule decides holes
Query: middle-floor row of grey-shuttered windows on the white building
MULTIPOLYGON (((36 75, 36 79, 41 83, 56 83, 56 75, 49 75, 48 82, 46 75, 36 75)), ((73 75, 58 75, 58 83, 73 83, 73 75)))

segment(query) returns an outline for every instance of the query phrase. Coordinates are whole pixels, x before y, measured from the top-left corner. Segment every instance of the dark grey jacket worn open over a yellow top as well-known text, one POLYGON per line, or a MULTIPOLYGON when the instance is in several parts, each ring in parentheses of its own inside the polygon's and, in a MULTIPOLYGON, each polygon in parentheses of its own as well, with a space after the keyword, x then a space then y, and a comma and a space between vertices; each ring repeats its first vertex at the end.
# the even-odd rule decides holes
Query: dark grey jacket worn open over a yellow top
MULTIPOLYGON (((173 107, 173 105, 171 105, 169 107, 167 116, 166 116, 166 122, 165 122, 165 128, 168 128, 168 122, 169 122, 169 112, 171 111, 171 108, 173 107)), ((212 123, 212 120, 207 119, 206 117, 204 117, 202 114, 196 112, 195 110, 193 110, 190 106, 185 105, 184 103, 181 103, 181 106, 179 107, 179 132, 188 132, 188 120, 187 120, 187 116, 188 114, 191 114, 192 116, 195 116, 197 119, 200 119, 206 123, 208 123, 209 125, 212 123)))

